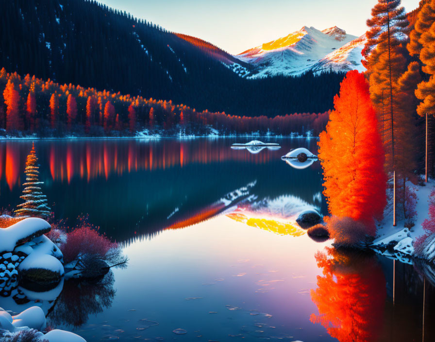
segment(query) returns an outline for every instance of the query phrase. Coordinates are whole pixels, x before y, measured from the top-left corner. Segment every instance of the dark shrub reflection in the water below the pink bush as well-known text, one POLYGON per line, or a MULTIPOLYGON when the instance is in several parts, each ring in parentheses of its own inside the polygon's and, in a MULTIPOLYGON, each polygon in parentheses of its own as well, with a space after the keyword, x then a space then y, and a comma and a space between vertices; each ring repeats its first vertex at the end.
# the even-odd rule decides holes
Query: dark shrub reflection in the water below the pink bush
POLYGON ((114 281, 111 271, 101 279, 65 281, 62 293, 47 317, 49 324, 84 325, 89 315, 100 313, 112 305, 116 292, 114 281))

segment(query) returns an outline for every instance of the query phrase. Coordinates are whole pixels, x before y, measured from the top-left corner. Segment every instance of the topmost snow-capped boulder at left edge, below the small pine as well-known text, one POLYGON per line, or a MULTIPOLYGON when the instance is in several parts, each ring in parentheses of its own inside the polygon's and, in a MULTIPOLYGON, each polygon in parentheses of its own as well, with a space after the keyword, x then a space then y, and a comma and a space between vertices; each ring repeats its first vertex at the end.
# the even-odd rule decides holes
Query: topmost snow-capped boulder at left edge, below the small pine
POLYGON ((17 245, 48 233, 50 223, 36 217, 30 217, 7 228, 0 229, 0 252, 13 251, 17 245))

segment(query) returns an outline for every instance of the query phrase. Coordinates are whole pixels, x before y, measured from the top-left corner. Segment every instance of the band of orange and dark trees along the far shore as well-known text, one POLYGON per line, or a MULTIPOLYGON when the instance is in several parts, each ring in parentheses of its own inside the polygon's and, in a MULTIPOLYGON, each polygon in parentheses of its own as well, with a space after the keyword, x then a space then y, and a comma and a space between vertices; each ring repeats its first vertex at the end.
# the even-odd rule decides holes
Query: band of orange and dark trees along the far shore
POLYGON ((27 74, 0 70, 0 128, 3 135, 39 137, 134 136, 148 134, 318 135, 329 112, 247 117, 197 111, 172 101, 145 99, 80 85, 59 85, 27 74))

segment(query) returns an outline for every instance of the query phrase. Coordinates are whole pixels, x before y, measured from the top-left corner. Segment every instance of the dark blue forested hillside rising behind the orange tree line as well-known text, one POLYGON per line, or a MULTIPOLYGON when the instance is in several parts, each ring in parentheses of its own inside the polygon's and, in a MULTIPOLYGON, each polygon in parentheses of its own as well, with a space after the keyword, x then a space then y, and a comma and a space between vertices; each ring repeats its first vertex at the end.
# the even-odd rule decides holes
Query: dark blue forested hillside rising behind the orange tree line
POLYGON ((0 67, 23 75, 249 116, 328 110, 343 78, 250 80, 217 47, 93 0, 0 1, 0 67))

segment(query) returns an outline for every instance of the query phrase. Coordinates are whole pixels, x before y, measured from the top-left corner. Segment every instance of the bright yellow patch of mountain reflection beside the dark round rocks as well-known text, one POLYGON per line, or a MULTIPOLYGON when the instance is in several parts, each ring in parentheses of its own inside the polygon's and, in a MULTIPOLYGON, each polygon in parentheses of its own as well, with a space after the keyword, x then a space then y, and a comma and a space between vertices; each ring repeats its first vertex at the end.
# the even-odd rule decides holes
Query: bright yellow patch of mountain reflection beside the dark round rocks
POLYGON ((291 235, 298 237, 305 234, 305 231, 288 222, 281 222, 273 218, 248 217, 241 213, 227 214, 227 217, 237 222, 246 223, 250 227, 256 227, 279 235, 291 235))

